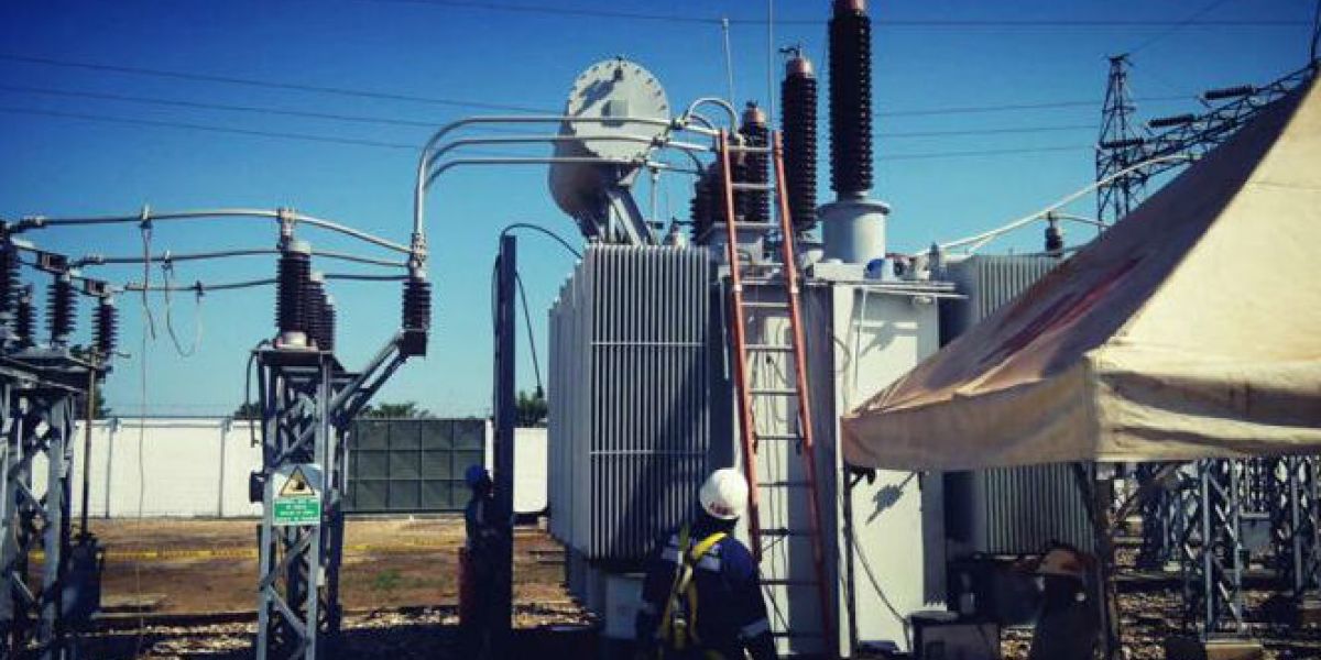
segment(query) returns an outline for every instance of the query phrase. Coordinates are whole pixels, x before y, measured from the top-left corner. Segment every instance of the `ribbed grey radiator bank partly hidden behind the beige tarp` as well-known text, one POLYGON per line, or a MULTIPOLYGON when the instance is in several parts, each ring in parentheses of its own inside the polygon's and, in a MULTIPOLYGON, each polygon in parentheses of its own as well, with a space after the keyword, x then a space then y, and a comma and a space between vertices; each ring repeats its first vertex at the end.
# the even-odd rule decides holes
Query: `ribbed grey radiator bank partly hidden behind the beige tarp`
MULTIPOLYGON (((1049 256, 972 256, 947 267, 966 300, 942 302, 941 342, 1013 301, 1061 261, 1049 256)), ((1087 521, 1067 465, 974 470, 946 475, 951 533, 972 552, 1033 553, 1050 541, 1091 548, 1087 521)))

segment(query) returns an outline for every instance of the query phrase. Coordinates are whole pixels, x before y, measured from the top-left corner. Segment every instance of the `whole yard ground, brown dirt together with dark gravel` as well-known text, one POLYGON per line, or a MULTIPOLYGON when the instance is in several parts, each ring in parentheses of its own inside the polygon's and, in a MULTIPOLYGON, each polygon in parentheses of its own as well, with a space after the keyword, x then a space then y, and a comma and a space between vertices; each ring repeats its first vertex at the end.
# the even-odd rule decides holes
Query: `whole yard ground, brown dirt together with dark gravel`
MULTIPOLYGON (((85 657, 206 659, 252 657, 255 624, 254 521, 99 521, 92 529, 108 549, 104 603, 108 630, 85 639, 85 657), (156 623, 140 626, 135 605, 147 605, 156 623), (227 623, 176 620, 229 612, 227 623)), ((458 517, 374 519, 347 524, 341 593, 347 614, 338 657, 412 660, 454 657, 457 624, 456 553, 462 544, 458 517)), ((1122 553, 1120 564, 1131 557, 1122 553)), ((563 585, 560 546, 536 528, 515 539, 515 657, 590 657, 590 619, 563 585)), ((1125 561, 1127 560, 1127 561, 1125 561)), ((1122 569, 1122 574, 1128 573, 1122 569)), ((1122 581, 1124 656, 1164 657, 1161 643, 1180 632, 1182 593, 1165 581, 1122 581)), ((1268 660, 1321 657, 1321 631, 1267 623, 1266 589, 1247 591, 1252 634, 1268 660)), ((1005 660, 1026 657, 1030 630, 1001 639, 1005 660)))

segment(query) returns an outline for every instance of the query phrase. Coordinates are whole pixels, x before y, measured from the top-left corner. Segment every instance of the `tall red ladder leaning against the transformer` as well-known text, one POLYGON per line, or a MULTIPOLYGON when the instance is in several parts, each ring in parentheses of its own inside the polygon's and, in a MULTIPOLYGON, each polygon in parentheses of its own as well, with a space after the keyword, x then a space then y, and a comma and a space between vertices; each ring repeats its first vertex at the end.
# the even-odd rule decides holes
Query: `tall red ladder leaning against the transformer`
MULTIPOLYGON (((802 314, 802 300, 801 300, 801 277, 797 265, 797 251, 794 247, 794 227, 791 218, 789 215, 789 198, 785 194, 785 158, 783 158, 783 137, 779 131, 771 133, 771 145, 742 145, 734 144, 731 140, 731 135, 721 131, 719 140, 719 158, 721 168, 721 187, 724 189, 724 219, 728 243, 725 246, 727 257, 729 261, 729 281, 732 290, 732 309, 733 309, 733 354, 737 356, 734 362, 734 388, 738 396, 738 430, 740 440, 742 441, 742 454, 744 454, 744 473, 748 478, 748 531, 752 536, 753 554, 756 556, 758 564, 762 558, 762 550, 765 549, 764 540, 768 537, 778 537, 787 541, 789 537, 795 536, 808 536, 812 548, 812 568, 815 573, 815 579, 790 579, 789 576, 782 576, 779 579, 766 579, 768 585, 782 585, 786 589, 801 587, 801 586, 815 586, 818 598, 820 599, 820 615, 822 615, 822 640, 824 645, 824 652, 830 657, 836 656, 838 642, 835 636, 834 626, 834 607, 831 607, 831 589, 830 581, 826 573, 826 548, 822 539, 822 520, 820 520, 820 492, 816 484, 816 446, 812 437, 812 414, 811 414, 811 399, 808 397, 808 383, 807 383, 807 350, 806 339, 803 335, 803 314, 802 314), (769 183, 748 183, 733 181, 732 173, 733 166, 731 158, 734 153, 742 154, 770 154, 771 164, 774 166, 774 185, 769 183), (738 255, 738 219, 736 216, 734 194, 736 191, 748 193, 761 193, 761 194, 774 194, 775 209, 779 216, 779 235, 781 235, 781 263, 777 264, 775 271, 779 272, 782 279, 782 286, 768 289, 782 293, 783 300, 781 301, 766 301, 764 297, 758 297, 756 301, 746 301, 744 296, 744 279, 750 277, 750 272, 754 269, 761 269, 765 272, 765 265, 753 267, 752 264, 745 264, 740 260, 738 255), (771 343, 748 343, 748 318, 754 314, 766 313, 787 313, 790 325, 790 345, 771 345, 771 343), (756 359, 757 355, 764 355, 768 352, 791 354, 794 366, 794 383, 790 388, 766 388, 754 387, 749 380, 749 363, 756 359), (797 401, 797 432, 787 432, 771 436, 765 428, 757 425, 757 416, 754 405, 758 400, 791 400, 797 401), (806 478, 802 482, 794 480, 779 480, 762 483, 757 479, 757 447, 762 440, 797 440, 798 453, 803 459, 803 473, 806 478), (790 529, 787 527, 764 529, 761 521, 761 491, 769 488, 802 488, 807 491, 808 495, 808 520, 810 525, 807 531, 790 529)), ((802 634, 794 634, 786 631, 782 636, 806 636, 802 634)))

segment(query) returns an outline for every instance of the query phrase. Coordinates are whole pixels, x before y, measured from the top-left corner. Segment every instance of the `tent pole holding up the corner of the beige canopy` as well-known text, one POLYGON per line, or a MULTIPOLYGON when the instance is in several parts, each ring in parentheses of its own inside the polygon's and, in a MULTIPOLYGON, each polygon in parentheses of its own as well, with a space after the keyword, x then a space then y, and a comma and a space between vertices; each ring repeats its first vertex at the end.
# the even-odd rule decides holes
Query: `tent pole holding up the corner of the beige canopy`
POLYGON ((1092 577, 1096 585, 1096 607, 1100 616, 1100 657, 1118 660, 1120 652, 1119 598, 1115 593, 1115 544, 1111 537, 1110 506, 1114 502, 1112 480, 1102 486, 1099 463, 1073 463, 1074 479, 1087 507, 1092 528, 1092 554, 1096 562, 1092 577))

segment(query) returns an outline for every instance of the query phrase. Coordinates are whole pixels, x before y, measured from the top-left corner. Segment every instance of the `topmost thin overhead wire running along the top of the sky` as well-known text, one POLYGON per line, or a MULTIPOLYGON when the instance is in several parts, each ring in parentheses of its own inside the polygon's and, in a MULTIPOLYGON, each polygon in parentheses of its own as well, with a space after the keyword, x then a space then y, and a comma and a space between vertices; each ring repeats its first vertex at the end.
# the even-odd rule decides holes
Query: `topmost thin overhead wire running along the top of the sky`
MULTIPOLYGON (((513 3, 483 3, 476 0, 371 0, 375 4, 411 4, 423 7, 446 7, 456 9, 477 9, 505 13, 564 16, 581 18, 605 18, 627 21, 672 22, 690 25, 719 26, 723 17, 694 16, 680 13, 649 13, 624 12, 606 8, 587 7, 535 7, 513 3)), ((731 24, 737 25, 766 25, 764 17, 729 17, 731 24)), ((1137 18, 886 18, 875 20, 877 25, 893 28, 1161 28, 1161 26, 1254 26, 1254 28, 1295 28, 1308 25, 1306 21, 1296 20, 1137 20, 1137 18)), ((823 18, 782 18, 777 17, 778 25, 824 25, 823 18)))

